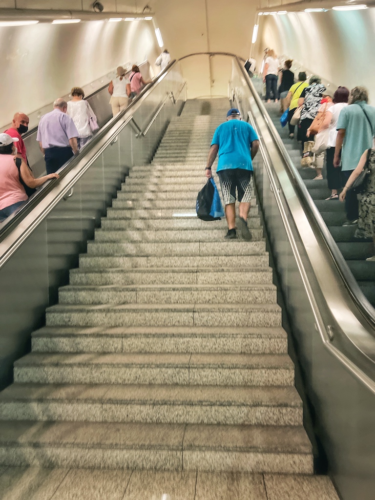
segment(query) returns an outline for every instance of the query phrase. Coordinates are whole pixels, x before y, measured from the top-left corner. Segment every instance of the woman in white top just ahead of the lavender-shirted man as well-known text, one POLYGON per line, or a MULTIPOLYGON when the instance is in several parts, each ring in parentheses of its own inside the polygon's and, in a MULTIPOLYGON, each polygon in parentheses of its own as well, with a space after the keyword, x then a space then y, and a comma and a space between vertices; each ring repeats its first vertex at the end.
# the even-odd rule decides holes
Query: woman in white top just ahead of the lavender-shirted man
POLYGON ((92 137, 93 130, 99 128, 96 123, 96 115, 86 100, 83 100, 84 92, 80 87, 73 87, 70 95, 72 99, 67 103, 66 114, 71 116, 75 128, 79 133, 77 137, 78 149, 92 137))

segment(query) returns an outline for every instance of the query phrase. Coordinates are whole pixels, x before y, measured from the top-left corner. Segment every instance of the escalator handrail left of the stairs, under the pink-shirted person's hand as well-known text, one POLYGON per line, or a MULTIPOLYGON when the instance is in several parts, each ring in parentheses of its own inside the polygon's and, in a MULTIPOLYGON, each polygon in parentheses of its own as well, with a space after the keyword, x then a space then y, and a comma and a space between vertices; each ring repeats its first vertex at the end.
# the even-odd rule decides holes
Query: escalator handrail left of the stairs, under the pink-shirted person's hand
MULTIPOLYGON (((60 178, 63 178, 76 164, 78 161, 82 159, 84 154, 86 154, 89 150, 91 150, 97 142, 115 125, 125 113, 131 109, 138 101, 142 98, 142 96, 150 90, 155 83, 157 83, 160 78, 176 63, 176 60, 172 60, 169 64, 158 73, 150 83, 144 86, 144 88, 136 95, 130 104, 123 109, 116 116, 111 118, 94 136, 93 138, 85 144, 82 149, 79 151, 77 155, 74 155, 68 162, 65 163, 57 172, 59 173, 60 178), (82 154, 83 153, 83 154, 82 154)), ((23 220, 23 218, 37 205, 37 203, 44 198, 58 183, 58 179, 51 179, 45 182, 40 189, 38 189, 32 196, 28 198, 22 207, 11 214, 7 219, 5 219, 5 223, 3 223, 3 227, 0 228, 0 242, 9 234, 10 231, 14 229, 14 227, 23 220)))

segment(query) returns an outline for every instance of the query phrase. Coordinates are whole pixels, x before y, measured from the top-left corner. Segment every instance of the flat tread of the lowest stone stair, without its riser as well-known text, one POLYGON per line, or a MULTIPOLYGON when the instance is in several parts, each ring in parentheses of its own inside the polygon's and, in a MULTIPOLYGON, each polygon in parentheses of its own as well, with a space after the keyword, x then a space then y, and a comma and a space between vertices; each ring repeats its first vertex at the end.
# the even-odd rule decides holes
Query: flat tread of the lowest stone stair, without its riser
POLYGON ((2 421, 4 445, 311 454, 303 427, 295 426, 2 421))

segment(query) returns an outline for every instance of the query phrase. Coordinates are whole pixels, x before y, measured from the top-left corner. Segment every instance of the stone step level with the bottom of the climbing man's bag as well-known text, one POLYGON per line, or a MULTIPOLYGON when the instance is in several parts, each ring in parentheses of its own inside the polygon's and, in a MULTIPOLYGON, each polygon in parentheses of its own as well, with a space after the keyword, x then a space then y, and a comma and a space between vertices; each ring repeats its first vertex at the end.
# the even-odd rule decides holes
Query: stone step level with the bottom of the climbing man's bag
MULTIPOLYGON (((119 210, 120 211, 120 210, 119 210)), ((259 228, 260 217, 253 213, 247 219, 247 226, 251 228, 259 228)), ((221 231, 226 232, 227 223, 224 218, 221 220, 201 220, 198 217, 172 217, 170 219, 121 219, 114 217, 103 217, 101 219, 102 229, 127 229, 140 230, 140 231, 189 231, 189 230, 201 230, 201 231, 221 231)), ((221 239, 222 233, 220 233, 219 239, 221 239)))

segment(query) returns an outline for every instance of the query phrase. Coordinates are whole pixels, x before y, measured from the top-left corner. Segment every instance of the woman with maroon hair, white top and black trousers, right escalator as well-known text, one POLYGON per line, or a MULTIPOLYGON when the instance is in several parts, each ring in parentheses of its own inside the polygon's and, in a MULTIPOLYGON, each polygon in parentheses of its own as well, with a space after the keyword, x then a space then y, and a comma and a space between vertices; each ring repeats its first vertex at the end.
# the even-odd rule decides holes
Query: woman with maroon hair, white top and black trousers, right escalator
POLYGON ((329 135, 328 148, 326 149, 326 165, 327 165, 327 181, 328 188, 331 194, 326 199, 338 199, 337 190, 341 187, 340 174, 341 168, 333 166, 334 146, 336 145, 337 130, 336 124, 338 115, 341 109, 347 106, 349 98, 349 89, 346 87, 338 87, 333 94, 333 106, 327 111, 327 119, 329 119, 329 135))

